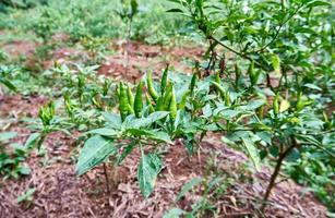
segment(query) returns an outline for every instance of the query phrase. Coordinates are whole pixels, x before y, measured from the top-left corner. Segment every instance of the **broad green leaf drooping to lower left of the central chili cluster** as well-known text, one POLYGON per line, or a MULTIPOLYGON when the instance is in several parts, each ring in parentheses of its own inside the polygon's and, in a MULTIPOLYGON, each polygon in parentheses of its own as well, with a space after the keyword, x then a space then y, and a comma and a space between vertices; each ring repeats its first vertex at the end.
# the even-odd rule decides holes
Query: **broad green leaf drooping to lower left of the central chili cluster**
POLYGON ((81 150, 75 169, 76 174, 84 174, 116 153, 117 148, 113 146, 112 140, 100 135, 88 138, 81 150))

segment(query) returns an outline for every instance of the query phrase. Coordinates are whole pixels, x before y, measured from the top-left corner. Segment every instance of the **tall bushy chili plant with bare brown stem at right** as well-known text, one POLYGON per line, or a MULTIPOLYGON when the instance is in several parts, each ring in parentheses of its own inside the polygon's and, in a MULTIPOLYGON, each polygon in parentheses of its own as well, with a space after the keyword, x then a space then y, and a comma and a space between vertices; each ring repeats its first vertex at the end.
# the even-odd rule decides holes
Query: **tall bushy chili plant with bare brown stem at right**
MULTIPOLYGON (((231 107, 237 102, 231 104, 235 100, 231 100, 231 93, 237 92, 235 96, 239 96, 239 89, 244 89, 247 93, 239 96, 238 101, 255 96, 268 99, 272 96, 271 111, 264 114, 264 107, 261 104, 253 108, 260 109, 254 111, 249 122, 234 121, 230 125, 228 120, 227 126, 223 129, 227 132, 224 136, 225 142, 237 147, 239 144, 243 145, 256 169, 260 168, 260 155, 264 158, 271 154, 276 158, 276 167, 261 206, 263 210, 283 161, 289 155, 294 152, 304 154, 306 150, 301 147, 308 145, 308 147, 316 146, 334 157, 334 153, 321 143, 322 138, 314 134, 327 130, 324 130, 319 111, 310 107, 313 100, 303 96, 306 87, 323 90, 324 96, 327 93, 327 86, 323 85, 323 88, 320 88, 319 85, 323 77, 330 78, 327 75, 334 70, 332 64, 328 65, 333 61, 330 62, 327 58, 332 56, 328 47, 332 36, 327 27, 331 23, 327 19, 322 20, 322 27, 319 28, 320 25, 315 25, 313 21, 331 17, 331 4, 313 0, 282 1, 282 3, 207 0, 171 0, 171 2, 175 2, 177 8, 168 11, 190 17, 208 41, 210 60, 205 70, 207 73, 213 71, 216 75, 217 80, 213 84, 226 106, 231 107), (272 10, 268 10, 270 8, 272 10), (319 37, 315 44, 315 37, 310 36, 316 36, 318 33, 323 33, 324 37, 319 37), (218 47, 224 50, 219 50, 218 47), (231 73, 229 70, 226 71, 227 52, 236 55, 235 60, 250 61, 247 71, 249 84, 238 63, 235 68, 235 82, 232 81, 231 73), (326 55, 322 56, 321 52, 326 55), (324 72, 321 74, 318 68, 322 68, 324 72), (222 86, 223 76, 228 82, 222 86), (277 77, 276 86, 273 85, 272 77, 277 77), (309 84, 312 83, 310 78, 321 80, 318 80, 319 84, 314 86, 309 84), (262 87, 264 83, 265 88, 262 87), (235 87, 231 84, 235 84, 235 87), (282 93, 285 93, 285 98, 280 97, 282 93), (237 124, 249 130, 237 131, 237 124)), ((232 114, 237 113, 235 110, 232 114)))

